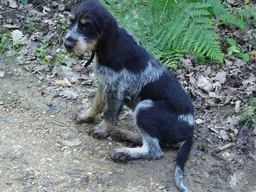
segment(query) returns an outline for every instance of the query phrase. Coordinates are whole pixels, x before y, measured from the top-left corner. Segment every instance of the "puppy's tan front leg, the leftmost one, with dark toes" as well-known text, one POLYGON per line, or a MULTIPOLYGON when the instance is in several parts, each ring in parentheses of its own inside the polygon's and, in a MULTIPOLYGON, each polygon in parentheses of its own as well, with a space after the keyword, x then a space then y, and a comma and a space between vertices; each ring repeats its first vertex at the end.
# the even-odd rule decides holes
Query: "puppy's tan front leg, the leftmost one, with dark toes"
POLYGON ((76 121, 78 123, 91 122, 96 115, 101 113, 106 105, 106 98, 103 93, 103 88, 99 86, 95 97, 92 100, 91 108, 85 112, 76 115, 76 121))

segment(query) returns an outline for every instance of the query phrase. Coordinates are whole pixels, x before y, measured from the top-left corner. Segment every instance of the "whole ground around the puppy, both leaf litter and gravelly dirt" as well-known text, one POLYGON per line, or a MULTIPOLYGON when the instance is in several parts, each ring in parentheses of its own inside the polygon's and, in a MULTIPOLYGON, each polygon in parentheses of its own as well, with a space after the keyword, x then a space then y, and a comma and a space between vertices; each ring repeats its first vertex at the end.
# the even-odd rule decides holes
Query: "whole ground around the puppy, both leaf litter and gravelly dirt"
MULTIPOLYGON (((70 58, 63 50, 68 14, 81 1, 0 2, 0 37, 6 37, 0 44, 0 190, 178 191, 177 149, 163 148, 159 160, 114 162, 112 150, 135 146, 89 136, 101 116, 90 124, 74 121, 79 109, 90 107, 98 83, 92 67, 83 67, 86 59, 70 58), (72 86, 56 84, 65 77, 72 86)), ((241 1, 226 3, 241 7, 241 1)), ((198 65, 188 56, 174 71, 196 117, 183 182, 190 191, 255 192, 256 29, 248 22, 244 31, 221 25, 215 32, 223 65, 198 65), (226 38, 252 52, 250 60, 227 56, 226 38)), ((115 128, 136 132, 134 127, 132 111, 124 108, 115 128)))

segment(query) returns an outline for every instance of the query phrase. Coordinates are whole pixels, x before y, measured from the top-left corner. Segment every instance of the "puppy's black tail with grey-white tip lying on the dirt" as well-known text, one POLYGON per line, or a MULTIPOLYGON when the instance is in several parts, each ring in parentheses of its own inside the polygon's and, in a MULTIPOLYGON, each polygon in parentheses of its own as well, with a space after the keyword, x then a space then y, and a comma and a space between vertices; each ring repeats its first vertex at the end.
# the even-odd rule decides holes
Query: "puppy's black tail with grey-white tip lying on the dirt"
POLYGON ((189 192, 189 190, 183 185, 182 176, 183 176, 184 165, 188 160, 188 155, 192 147, 192 144, 193 144, 192 137, 186 139, 185 141, 183 141, 180 147, 180 150, 178 151, 178 154, 177 154, 177 166, 175 168, 174 178, 175 178, 176 186, 181 192, 189 192))

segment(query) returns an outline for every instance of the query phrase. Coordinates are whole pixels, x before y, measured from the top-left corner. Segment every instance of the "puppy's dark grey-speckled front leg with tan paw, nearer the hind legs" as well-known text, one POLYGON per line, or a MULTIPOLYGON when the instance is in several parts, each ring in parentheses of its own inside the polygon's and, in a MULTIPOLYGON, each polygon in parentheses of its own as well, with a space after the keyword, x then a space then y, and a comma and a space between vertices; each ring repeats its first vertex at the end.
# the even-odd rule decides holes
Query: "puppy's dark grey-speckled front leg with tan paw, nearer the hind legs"
POLYGON ((94 138, 101 139, 109 135, 108 131, 116 122, 117 116, 123 105, 123 97, 121 94, 108 92, 106 94, 106 108, 103 114, 104 120, 100 125, 90 130, 90 134, 94 138))

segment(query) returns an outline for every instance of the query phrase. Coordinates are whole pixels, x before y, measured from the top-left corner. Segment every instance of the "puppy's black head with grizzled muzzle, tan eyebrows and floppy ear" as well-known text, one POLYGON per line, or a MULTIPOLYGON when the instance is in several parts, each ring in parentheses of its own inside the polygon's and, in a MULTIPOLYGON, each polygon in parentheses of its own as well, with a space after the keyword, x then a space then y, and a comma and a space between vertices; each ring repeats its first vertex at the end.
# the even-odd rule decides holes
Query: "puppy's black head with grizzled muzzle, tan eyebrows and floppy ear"
POLYGON ((119 31, 115 18, 96 0, 84 1, 73 13, 65 37, 65 50, 81 56, 95 51, 99 61, 111 60, 119 45, 119 31))

